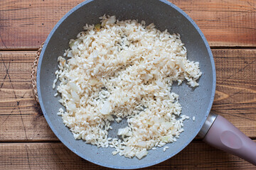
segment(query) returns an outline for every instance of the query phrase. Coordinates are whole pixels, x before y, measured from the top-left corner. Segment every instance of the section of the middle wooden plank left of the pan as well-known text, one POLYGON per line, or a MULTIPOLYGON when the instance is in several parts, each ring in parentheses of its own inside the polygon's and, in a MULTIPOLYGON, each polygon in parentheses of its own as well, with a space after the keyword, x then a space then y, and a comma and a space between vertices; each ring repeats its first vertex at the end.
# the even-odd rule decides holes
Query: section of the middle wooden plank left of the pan
POLYGON ((31 89, 36 52, 0 53, 0 141, 58 140, 31 89))

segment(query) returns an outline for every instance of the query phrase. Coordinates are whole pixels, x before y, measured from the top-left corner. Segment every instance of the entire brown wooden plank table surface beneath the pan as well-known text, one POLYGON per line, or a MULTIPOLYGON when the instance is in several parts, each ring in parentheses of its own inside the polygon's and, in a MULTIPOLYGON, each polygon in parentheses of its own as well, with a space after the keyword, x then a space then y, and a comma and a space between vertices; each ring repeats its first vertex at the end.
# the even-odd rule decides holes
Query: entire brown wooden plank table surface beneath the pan
MULTIPOLYGON (((48 127, 31 89, 31 64, 55 23, 82 0, 0 1, 0 169, 104 169, 78 157, 48 127)), ((198 24, 217 72, 212 111, 256 141, 256 1, 171 1, 198 24)), ((256 151, 255 151, 256 152, 256 151)), ((256 169, 193 140, 148 169, 256 169)))

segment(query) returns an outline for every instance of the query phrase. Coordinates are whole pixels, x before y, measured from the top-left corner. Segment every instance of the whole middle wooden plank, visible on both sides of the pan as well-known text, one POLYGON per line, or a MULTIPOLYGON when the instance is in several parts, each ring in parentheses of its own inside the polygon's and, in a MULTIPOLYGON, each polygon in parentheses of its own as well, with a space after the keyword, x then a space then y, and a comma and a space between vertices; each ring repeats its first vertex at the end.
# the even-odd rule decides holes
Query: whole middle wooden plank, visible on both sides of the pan
MULTIPOLYGON (((217 91, 213 111, 256 137, 256 50, 213 50, 217 91)), ((0 141, 58 140, 31 90, 36 52, 0 52, 0 141), (6 74, 6 68, 8 74, 6 74)))

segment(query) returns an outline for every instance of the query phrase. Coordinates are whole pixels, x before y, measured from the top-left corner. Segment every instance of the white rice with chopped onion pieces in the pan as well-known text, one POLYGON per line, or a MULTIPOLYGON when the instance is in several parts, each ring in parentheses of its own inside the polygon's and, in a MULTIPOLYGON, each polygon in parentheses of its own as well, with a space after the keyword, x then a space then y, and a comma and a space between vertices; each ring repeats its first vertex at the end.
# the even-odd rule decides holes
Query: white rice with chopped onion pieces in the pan
POLYGON ((57 90, 65 106, 58 115, 76 140, 142 159, 147 150, 176 142, 183 132, 183 120, 189 117, 181 115, 171 85, 186 80, 198 86, 199 63, 187 60, 178 34, 144 21, 101 19, 101 26, 86 25, 58 57, 53 89, 59 79, 57 90), (123 118, 128 126, 118 130, 122 140, 109 138, 111 124, 123 118))

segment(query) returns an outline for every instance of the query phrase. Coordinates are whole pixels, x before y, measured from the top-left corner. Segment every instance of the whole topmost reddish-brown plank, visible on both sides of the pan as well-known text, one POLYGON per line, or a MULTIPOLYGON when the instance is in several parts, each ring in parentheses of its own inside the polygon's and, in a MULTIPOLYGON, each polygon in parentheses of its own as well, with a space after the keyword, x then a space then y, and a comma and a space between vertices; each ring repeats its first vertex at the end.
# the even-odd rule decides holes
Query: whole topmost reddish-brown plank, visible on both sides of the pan
MULTIPOLYGON (((0 50, 38 48, 82 1, 0 1, 0 50)), ((170 1, 196 21, 211 46, 256 47, 256 1, 170 1)))

